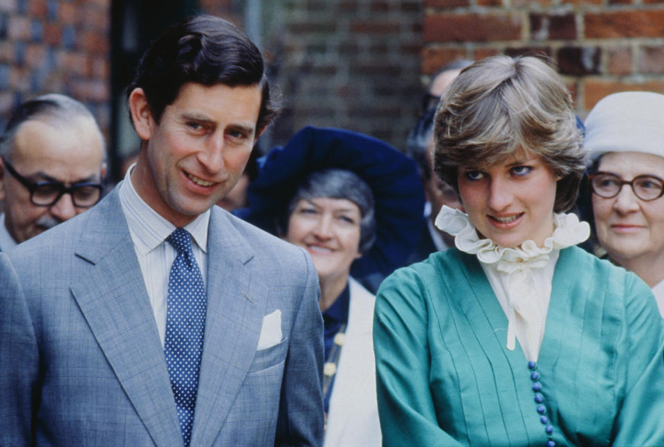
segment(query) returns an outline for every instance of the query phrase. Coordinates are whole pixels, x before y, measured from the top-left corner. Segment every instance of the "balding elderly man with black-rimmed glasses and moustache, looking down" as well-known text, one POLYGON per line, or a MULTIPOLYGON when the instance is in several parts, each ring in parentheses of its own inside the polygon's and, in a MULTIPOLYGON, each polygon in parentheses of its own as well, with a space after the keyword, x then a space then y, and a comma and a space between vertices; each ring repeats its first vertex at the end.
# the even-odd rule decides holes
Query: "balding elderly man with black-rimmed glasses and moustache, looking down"
POLYGON ((0 137, 0 249, 97 203, 104 138, 80 102, 51 93, 21 104, 0 137))

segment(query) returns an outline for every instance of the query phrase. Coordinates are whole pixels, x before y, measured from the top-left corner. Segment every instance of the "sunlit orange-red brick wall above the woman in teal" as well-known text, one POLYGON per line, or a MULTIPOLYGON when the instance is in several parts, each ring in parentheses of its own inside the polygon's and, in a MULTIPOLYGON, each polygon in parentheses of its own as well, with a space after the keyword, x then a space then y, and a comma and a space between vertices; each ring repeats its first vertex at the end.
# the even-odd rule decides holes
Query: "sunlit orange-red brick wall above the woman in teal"
POLYGON ((658 0, 424 0, 422 70, 457 57, 535 50, 553 57, 585 116, 624 90, 664 93, 658 0))

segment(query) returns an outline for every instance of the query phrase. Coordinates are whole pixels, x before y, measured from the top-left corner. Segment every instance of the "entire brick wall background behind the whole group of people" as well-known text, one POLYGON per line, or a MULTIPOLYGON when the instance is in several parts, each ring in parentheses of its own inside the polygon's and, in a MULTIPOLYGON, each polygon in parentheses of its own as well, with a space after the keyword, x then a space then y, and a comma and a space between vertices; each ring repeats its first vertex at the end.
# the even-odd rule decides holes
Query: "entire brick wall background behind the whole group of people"
MULTIPOLYGON (((231 0, 201 8, 241 25, 231 0)), ((265 3, 264 3, 265 4, 265 3)), ((664 3, 653 0, 282 0, 263 50, 286 109, 275 143, 313 124, 403 147, 421 75, 457 57, 537 50, 557 60, 581 116, 614 91, 664 93, 664 3)), ((111 0, 0 0, 0 127, 59 91, 109 129, 111 0)), ((425 79, 424 79, 425 80, 425 79)))

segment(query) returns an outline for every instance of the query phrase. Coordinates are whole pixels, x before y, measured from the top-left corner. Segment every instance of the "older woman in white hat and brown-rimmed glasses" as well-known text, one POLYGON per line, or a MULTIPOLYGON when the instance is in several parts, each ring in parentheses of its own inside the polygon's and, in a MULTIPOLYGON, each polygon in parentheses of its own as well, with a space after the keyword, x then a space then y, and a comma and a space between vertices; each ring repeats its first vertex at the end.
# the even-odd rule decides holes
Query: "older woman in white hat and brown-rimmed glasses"
POLYGON ((614 93, 585 126, 598 243, 652 288, 664 316, 664 95, 614 93))

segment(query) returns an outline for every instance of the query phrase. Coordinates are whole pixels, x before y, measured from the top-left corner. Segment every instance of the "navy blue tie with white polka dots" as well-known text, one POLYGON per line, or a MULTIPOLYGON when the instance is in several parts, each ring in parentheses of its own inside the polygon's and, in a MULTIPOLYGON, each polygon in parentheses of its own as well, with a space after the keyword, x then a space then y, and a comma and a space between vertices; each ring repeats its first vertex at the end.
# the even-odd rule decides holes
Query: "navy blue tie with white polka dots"
POLYGON ((178 250, 178 255, 168 277, 164 349, 186 447, 194 425, 208 303, 189 232, 177 228, 166 240, 178 250))

